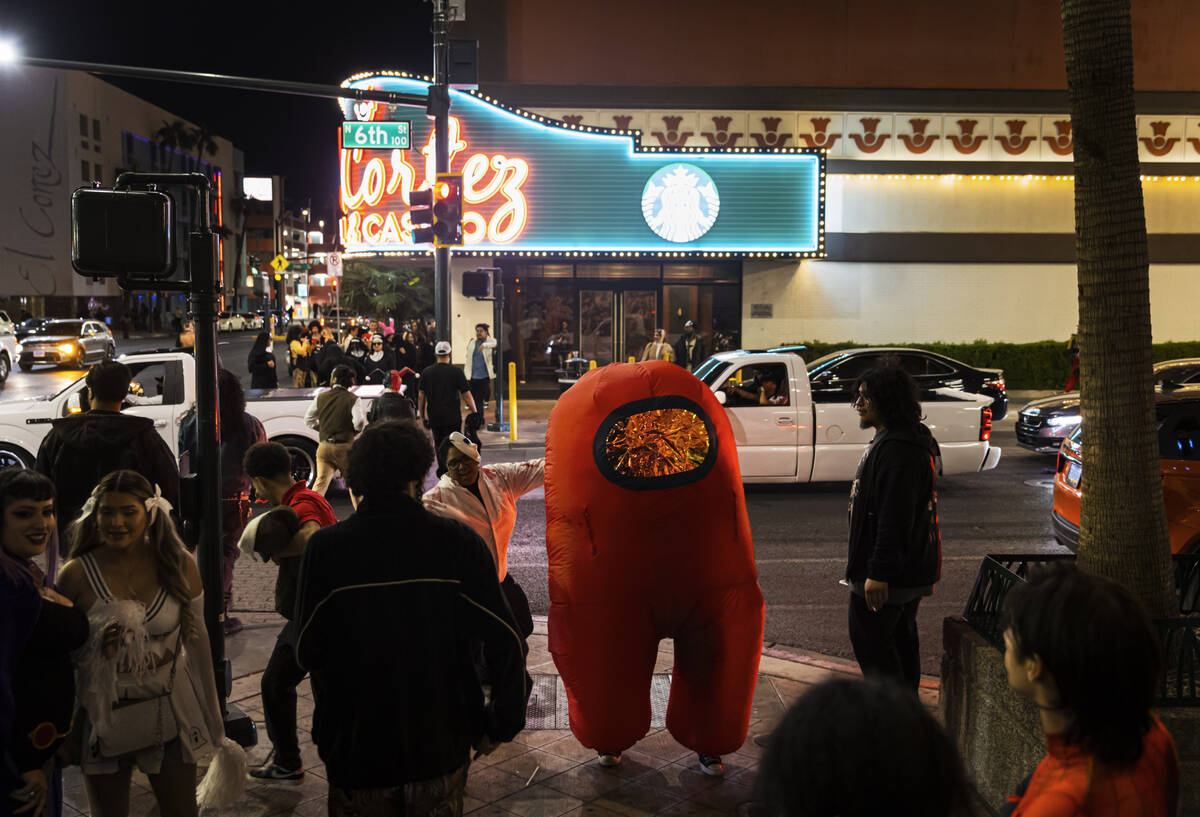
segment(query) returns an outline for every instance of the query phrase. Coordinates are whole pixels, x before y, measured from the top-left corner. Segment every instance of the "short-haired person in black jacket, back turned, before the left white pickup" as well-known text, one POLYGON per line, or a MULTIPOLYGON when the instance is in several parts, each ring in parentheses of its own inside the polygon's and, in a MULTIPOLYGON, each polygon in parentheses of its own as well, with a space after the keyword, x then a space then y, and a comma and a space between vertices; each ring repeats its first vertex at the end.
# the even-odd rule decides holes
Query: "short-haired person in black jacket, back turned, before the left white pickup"
POLYGON ((74 519, 101 477, 136 470, 179 506, 179 465, 150 417, 121 414, 133 376, 119 360, 88 370, 83 400, 88 410, 55 420, 37 449, 34 468, 58 491, 59 531, 74 519))

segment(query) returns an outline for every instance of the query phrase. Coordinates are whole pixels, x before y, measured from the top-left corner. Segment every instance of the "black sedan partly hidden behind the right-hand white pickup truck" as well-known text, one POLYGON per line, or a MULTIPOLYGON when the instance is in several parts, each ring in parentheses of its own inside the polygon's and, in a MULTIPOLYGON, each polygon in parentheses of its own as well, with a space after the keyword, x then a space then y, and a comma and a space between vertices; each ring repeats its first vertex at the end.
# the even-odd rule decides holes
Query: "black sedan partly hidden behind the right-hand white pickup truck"
POLYGON ((992 398, 992 420, 1003 420, 1008 413, 1003 370, 976 368, 924 349, 842 349, 817 358, 808 364, 812 400, 817 403, 848 401, 858 376, 878 366, 899 366, 912 374, 922 391, 959 389, 976 395, 988 395, 992 398))

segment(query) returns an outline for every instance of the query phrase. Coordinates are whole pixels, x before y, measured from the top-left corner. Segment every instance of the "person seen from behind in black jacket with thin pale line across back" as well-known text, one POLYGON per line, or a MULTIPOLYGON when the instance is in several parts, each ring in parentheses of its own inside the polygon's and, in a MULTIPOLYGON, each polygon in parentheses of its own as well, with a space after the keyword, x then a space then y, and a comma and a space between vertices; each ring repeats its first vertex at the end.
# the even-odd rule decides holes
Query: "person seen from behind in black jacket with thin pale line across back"
POLYGON ((415 423, 370 426, 347 469, 358 512, 313 533, 300 565, 296 657, 331 817, 462 813, 472 749, 524 727, 521 636, 479 535, 421 506, 432 462, 415 423))

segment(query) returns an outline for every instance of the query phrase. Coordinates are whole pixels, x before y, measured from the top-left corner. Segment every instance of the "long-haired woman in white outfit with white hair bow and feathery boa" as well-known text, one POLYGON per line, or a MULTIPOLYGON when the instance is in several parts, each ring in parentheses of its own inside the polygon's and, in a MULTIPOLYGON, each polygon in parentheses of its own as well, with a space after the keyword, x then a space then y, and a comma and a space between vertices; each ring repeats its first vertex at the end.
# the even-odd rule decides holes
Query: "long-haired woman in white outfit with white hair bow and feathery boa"
MULTIPOLYGON (((72 558, 61 589, 91 620, 77 657, 91 815, 128 815, 137 764, 150 777, 162 817, 196 817, 198 759, 239 750, 224 738, 200 573, 170 519, 170 504, 140 474, 113 471, 92 491, 68 539, 72 558)), ((228 755, 217 759, 200 785, 202 799, 214 769, 228 769, 228 755)), ((226 791, 217 793, 236 798, 240 789, 229 786, 235 782, 222 781, 226 791)))

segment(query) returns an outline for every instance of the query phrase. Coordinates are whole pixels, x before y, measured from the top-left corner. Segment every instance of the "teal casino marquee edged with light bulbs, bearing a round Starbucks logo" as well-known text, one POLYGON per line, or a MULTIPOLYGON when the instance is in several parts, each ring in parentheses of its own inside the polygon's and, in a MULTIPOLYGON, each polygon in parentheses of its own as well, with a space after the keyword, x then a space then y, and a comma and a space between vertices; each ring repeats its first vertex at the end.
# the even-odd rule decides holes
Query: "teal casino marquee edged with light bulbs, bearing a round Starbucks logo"
MULTIPOLYGON (((358 74, 349 88, 425 94, 427 78, 358 74)), ((424 254, 409 194, 432 184, 422 109, 340 102, 346 120, 412 122, 409 150, 340 150, 348 254, 424 254)), ((450 91, 450 172, 463 175, 456 253, 575 258, 824 256, 824 151, 662 148, 450 91)), ((341 145, 341 138, 338 138, 341 145)))

